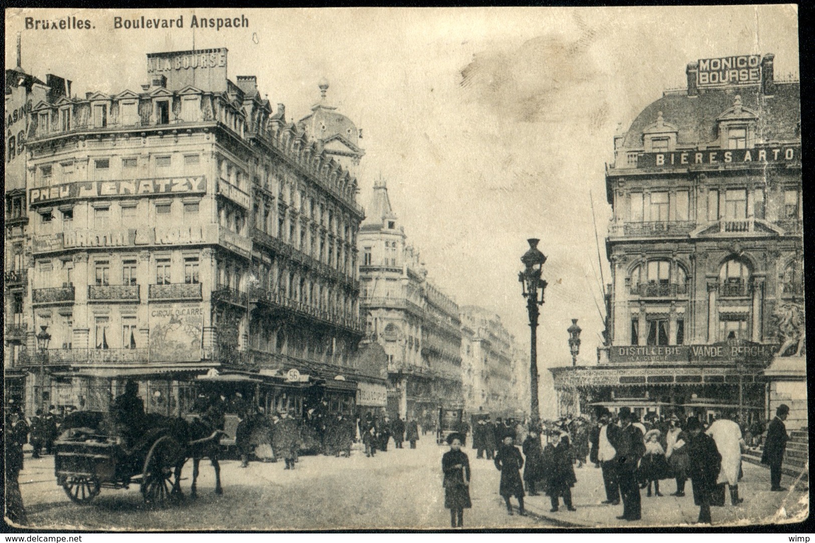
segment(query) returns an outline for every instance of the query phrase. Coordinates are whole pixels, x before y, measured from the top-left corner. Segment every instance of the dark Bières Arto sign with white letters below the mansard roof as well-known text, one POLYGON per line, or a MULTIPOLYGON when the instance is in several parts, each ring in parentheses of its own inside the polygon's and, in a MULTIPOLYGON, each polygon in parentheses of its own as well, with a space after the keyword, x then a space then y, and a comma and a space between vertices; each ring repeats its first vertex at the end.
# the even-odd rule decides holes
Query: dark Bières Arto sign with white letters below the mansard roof
POLYGON ((644 152, 637 168, 687 168, 716 164, 791 162, 801 160, 800 147, 709 149, 707 151, 644 152))

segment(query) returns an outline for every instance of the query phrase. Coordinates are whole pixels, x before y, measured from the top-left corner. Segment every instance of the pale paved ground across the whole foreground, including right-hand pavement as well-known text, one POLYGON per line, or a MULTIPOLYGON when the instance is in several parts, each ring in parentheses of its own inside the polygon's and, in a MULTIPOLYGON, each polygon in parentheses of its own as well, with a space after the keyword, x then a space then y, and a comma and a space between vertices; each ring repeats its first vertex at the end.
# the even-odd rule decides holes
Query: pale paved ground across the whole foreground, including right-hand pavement
MULTIPOLYGON (((199 498, 171 505, 164 510, 146 510, 138 485, 129 490, 103 489, 92 505, 74 505, 55 484, 53 457, 26 457, 20 477, 29 522, 40 528, 113 529, 331 529, 331 528, 447 528, 449 514, 443 508, 441 456, 425 436, 416 450, 394 449, 367 458, 359 450, 352 457, 302 457, 297 470, 283 464, 253 462, 240 469, 238 461, 222 461, 224 493, 216 496, 214 474, 202 462, 199 498)), ((695 523, 690 484, 684 498, 669 496, 675 490, 664 481, 664 497, 645 497, 642 520, 621 523, 615 517, 622 505, 601 505, 600 470, 593 466, 575 470, 573 489, 577 511, 549 512, 548 497, 527 497, 531 516, 510 517, 498 495, 499 472, 491 461, 478 460, 466 451, 474 468, 473 509, 465 511, 465 528, 553 528, 574 526, 676 525, 695 523)), ((769 472, 744 464, 740 485, 745 501, 738 507, 712 509, 713 522, 782 522, 808 509, 805 492, 769 492, 769 472), (783 508, 783 513, 779 511, 783 508), (772 519, 772 520, 771 520, 772 519)), ((184 492, 189 492, 192 462, 185 467, 184 492)), ((791 485, 792 479, 782 481, 791 485)), ((513 503, 514 500, 513 500, 513 503)))

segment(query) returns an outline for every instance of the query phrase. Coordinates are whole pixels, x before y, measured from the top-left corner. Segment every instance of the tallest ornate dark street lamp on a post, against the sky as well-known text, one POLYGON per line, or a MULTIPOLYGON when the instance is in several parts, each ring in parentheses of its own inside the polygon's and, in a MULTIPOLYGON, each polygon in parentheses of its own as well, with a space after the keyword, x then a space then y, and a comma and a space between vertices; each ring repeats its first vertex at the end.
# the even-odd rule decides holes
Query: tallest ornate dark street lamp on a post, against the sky
POLYGON ((540 421, 538 404, 538 316, 540 316, 540 309, 538 309, 538 306, 544 303, 544 291, 548 283, 540 279, 541 267, 546 262, 546 256, 538 250, 540 240, 531 238, 526 241, 529 242, 529 250, 521 257, 525 269, 523 272, 518 272, 518 282, 522 285, 522 295, 526 298, 526 311, 529 313, 531 336, 529 353, 530 417, 532 422, 536 423, 540 421))

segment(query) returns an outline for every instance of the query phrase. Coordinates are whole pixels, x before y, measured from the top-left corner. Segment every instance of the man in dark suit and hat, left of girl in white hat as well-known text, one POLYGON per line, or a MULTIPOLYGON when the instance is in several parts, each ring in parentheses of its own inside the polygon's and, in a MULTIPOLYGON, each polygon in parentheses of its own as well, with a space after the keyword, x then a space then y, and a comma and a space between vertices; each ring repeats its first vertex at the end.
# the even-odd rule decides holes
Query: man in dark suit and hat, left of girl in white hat
POLYGON ((637 466, 645 453, 641 430, 633 425, 634 415, 627 407, 619 410, 620 426, 612 432, 609 440, 616 451, 617 480, 619 493, 623 499, 623 514, 620 520, 641 519, 640 486, 637 484, 637 466))

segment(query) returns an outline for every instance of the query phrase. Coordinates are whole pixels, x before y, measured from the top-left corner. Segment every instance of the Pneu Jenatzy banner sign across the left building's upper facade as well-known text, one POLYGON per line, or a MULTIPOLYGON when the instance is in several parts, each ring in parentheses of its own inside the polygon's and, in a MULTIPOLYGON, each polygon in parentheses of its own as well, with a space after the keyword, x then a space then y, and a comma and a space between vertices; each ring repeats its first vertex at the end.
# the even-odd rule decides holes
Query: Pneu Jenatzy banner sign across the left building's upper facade
POLYGON ((86 181, 52 187, 32 188, 29 204, 36 205, 73 198, 114 196, 153 196, 206 192, 206 177, 167 177, 163 179, 128 179, 123 181, 86 181))

